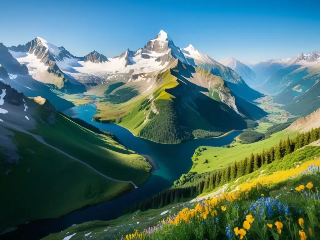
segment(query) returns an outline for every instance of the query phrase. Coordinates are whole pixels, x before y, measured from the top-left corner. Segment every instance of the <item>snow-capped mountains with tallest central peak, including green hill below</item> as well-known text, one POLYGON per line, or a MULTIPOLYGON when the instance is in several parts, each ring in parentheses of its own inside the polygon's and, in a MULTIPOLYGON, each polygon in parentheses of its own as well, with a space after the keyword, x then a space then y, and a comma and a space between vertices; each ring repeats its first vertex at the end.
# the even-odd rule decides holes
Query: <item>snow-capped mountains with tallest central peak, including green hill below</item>
MULTIPOLYGON (((96 51, 76 57, 40 37, 8 47, 6 54, 16 65, 27 67, 30 81, 42 83, 41 88, 49 86, 56 96, 83 93, 105 98, 97 102, 101 110, 96 121, 118 123, 157 142, 179 143, 202 136, 198 132, 216 135, 244 129, 267 115, 251 103, 263 94, 234 70, 191 44, 180 49, 162 30, 143 48, 111 58, 96 51), (110 103, 120 105, 110 111, 110 103), (162 121, 170 124, 161 129, 162 121)), ((10 84, 11 80, 4 79, 10 84)), ((12 84, 20 84, 21 91, 22 86, 29 87, 26 82, 15 79, 12 84)), ((56 106, 54 97, 48 93, 44 97, 56 106)))

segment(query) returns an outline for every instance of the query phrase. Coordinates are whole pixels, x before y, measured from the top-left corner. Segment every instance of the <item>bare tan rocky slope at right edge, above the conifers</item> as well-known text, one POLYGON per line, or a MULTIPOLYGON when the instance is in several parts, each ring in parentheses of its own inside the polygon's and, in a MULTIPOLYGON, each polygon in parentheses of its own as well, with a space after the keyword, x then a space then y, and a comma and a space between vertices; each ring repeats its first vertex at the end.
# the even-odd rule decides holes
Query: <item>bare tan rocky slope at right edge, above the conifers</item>
POLYGON ((320 108, 308 116, 298 118, 288 127, 288 130, 290 132, 308 132, 317 127, 320 127, 320 108))

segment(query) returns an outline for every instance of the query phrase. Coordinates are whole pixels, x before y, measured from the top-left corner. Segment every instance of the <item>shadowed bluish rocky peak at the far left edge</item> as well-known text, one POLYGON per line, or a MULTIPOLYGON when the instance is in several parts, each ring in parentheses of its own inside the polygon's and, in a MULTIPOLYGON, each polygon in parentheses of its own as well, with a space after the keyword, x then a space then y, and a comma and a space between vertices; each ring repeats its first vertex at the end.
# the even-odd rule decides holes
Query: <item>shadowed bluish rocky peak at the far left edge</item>
POLYGON ((4 44, 0 43, 0 64, 11 74, 27 75, 28 68, 24 64, 20 64, 4 44))

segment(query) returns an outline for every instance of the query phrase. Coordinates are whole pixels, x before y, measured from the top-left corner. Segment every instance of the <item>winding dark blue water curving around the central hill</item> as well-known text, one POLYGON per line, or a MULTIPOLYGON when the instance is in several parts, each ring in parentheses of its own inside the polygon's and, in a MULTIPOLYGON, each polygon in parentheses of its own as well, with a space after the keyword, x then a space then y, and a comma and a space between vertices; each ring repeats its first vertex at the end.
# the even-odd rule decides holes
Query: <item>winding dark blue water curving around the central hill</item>
POLYGON ((136 137, 129 130, 117 124, 93 122, 92 117, 97 113, 93 104, 69 108, 63 113, 70 117, 78 117, 100 130, 114 133, 126 148, 152 158, 159 169, 153 171, 150 178, 142 186, 116 199, 76 210, 57 219, 42 219, 22 224, 12 233, 0 235, 0 239, 36 240, 50 233, 60 232, 72 224, 115 219, 123 213, 124 208, 136 201, 157 194, 164 188, 169 188, 174 180, 180 178, 182 173, 187 173, 192 166, 191 157, 197 147, 203 145, 224 146, 231 143, 241 133, 240 131, 231 132, 221 138, 194 139, 174 145, 160 144, 136 137))

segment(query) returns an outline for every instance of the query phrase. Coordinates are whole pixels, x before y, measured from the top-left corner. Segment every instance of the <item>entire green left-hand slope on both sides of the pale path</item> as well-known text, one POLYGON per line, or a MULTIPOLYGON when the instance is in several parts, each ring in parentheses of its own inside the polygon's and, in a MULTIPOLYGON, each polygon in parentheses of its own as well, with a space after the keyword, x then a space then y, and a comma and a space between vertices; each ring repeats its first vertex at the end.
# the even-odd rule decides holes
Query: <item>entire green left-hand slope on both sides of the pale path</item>
MULTIPOLYGON (((151 166, 144 157, 60 114, 55 124, 38 123, 32 132, 109 177, 131 180, 137 185, 149 177, 151 166)), ((0 232, 27 220, 59 217, 133 188, 131 183, 103 178, 25 133, 15 132, 14 140, 21 156, 19 164, 6 164, 0 156, 4 167, 0 182, 5 182, 0 212, 6 219, 0 232), (11 171, 5 175, 7 170, 11 171)))

